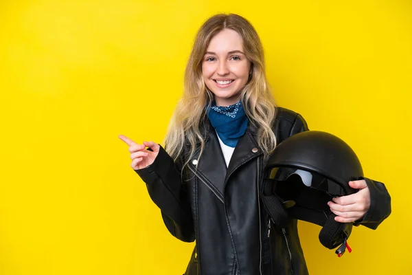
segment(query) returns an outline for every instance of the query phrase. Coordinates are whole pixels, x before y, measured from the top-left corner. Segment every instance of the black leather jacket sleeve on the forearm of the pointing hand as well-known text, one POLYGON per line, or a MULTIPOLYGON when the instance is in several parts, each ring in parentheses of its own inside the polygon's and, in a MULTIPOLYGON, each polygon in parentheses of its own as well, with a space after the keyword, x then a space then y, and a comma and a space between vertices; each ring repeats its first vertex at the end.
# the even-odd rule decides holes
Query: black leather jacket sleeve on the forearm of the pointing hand
POLYGON ((181 241, 194 241, 190 202, 172 157, 160 146, 155 161, 135 172, 146 183, 150 198, 160 208, 169 232, 181 241))

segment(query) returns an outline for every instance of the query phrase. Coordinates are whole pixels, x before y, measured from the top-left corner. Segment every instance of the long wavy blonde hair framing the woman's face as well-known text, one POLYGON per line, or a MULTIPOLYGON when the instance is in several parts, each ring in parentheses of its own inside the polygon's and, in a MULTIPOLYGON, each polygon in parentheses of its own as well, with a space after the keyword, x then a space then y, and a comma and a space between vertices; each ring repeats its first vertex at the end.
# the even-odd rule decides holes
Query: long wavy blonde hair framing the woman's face
POLYGON ((196 34, 185 69, 183 96, 174 110, 165 137, 165 150, 174 160, 183 153, 185 144, 190 145, 186 163, 199 144, 201 154, 203 152, 205 139, 201 133, 201 121, 205 119, 205 107, 210 106, 214 95, 203 80, 202 61, 212 37, 225 28, 240 34, 244 54, 251 61, 252 74, 240 98, 249 121, 256 126, 258 145, 266 157, 275 149, 276 137, 271 129, 276 115, 275 100, 266 80, 264 51, 258 33, 247 19, 238 14, 216 14, 207 19, 196 34))

